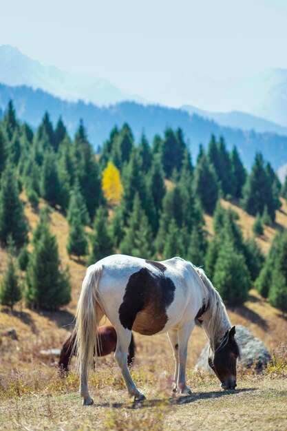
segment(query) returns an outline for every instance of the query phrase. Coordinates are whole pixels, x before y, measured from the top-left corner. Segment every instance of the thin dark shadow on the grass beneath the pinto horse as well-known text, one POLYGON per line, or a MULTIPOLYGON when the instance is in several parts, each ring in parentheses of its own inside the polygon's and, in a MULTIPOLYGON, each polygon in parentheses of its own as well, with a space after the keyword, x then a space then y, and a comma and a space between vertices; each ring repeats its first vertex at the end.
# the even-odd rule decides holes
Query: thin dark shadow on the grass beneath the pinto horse
POLYGON ((172 397, 165 399, 147 399, 145 401, 134 401, 133 403, 95 403, 95 407, 109 408, 150 408, 162 406, 181 406, 182 404, 194 403, 202 399, 213 399, 226 397, 227 395, 236 396, 240 392, 251 392, 256 388, 243 388, 239 390, 213 390, 211 392, 194 392, 192 395, 181 395, 180 397, 172 397))

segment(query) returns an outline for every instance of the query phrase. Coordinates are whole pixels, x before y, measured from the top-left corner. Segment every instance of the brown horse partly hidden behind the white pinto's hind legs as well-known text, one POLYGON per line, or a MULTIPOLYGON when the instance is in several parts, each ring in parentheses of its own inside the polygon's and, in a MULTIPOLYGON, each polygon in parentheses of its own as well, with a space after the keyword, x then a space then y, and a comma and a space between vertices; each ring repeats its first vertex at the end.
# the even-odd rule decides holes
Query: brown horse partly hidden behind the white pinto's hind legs
MULTIPOLYGON (((69 364, 73 355, 76 354, 75 347, 76 333, 72 335, 63 344, 60 360, 59 360, 59 370, 69 372, 69 364)), ((116 330, 114 326, 102 326, 98 328, 98 343, 96 345, 97 355, 96 356, 106 356, 109 353, 116 350, 116 330)), ((134 336, 131 335, 131 343, 129 344, 129 355, 127 357, 127 364, 131 365, 134 359, 135 344, 134 336)))

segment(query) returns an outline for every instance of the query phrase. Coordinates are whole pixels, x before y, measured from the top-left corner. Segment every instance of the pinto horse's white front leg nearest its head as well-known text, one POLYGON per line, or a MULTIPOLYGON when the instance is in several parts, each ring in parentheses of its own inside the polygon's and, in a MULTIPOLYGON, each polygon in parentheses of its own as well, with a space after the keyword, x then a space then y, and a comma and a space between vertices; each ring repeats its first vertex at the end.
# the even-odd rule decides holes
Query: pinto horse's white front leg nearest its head
POLYGON ((178 330, 178 392, 180 394, 191 394, 191 389, 185 381, 185 370, 187 368, 187 345, 194 326, 193 320, 185 322, 178 330))

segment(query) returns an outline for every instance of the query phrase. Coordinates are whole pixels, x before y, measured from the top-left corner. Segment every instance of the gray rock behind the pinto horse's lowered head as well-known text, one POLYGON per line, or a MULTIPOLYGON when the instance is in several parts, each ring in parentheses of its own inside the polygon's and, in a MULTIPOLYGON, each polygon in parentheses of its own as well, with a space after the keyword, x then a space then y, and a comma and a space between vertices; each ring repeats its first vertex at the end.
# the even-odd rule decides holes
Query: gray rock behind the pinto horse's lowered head
MULTIPOLYGON (((257 371, 261 371, 263 366, 271 359, 266 346, 258 338, 253 337, 251 332, 242 325, 236 326, 236 336, 242 352, 240 365, 243 368, 255 366, 257 371)), ((202 353, 200 353, 195 369, 202 368, 203 370, 212 372, 208 364, 208 353, 209 343, 206 344, 202 353)))

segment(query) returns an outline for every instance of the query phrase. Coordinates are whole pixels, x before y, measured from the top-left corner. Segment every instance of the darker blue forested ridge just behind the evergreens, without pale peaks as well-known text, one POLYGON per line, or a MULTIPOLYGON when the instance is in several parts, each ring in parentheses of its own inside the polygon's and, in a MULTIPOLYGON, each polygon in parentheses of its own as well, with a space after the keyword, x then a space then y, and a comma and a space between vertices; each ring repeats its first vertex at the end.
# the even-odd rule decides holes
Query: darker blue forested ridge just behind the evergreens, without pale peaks
POLYGON ((196 114, 190 115, 182 109, 162 107, 160 105, 141 105, 136 102, 121 102, 109 107, 98 107, 83 101, 63 101, 30 87, 9 87, 0 84, 0 109, 6 109, 12 99, 17 110, 17 116, 27 121, 32 127, 37 127, 45 111, 55 124, 59 116, 73 136, 78 127, 79 119, 83 118, 89 140, 95 149, 103 144, 114 125, 121 127, 127 122, 131 126, 136 141, 145 133, 151 141, 155 134, 163 134, 166 127, 181 127, 185 139, 191 149, 193 159, 198 154, 198 145, 206 146, 211 134, 217 138, 224 136, 228 149, 237 145, 244 165, 250 169, 256 151, 261 151, 275 169, 287 162, 287 136, 271 132, 245 132, 241 129, 223 127, 213 120, 202 118, 196 114))

